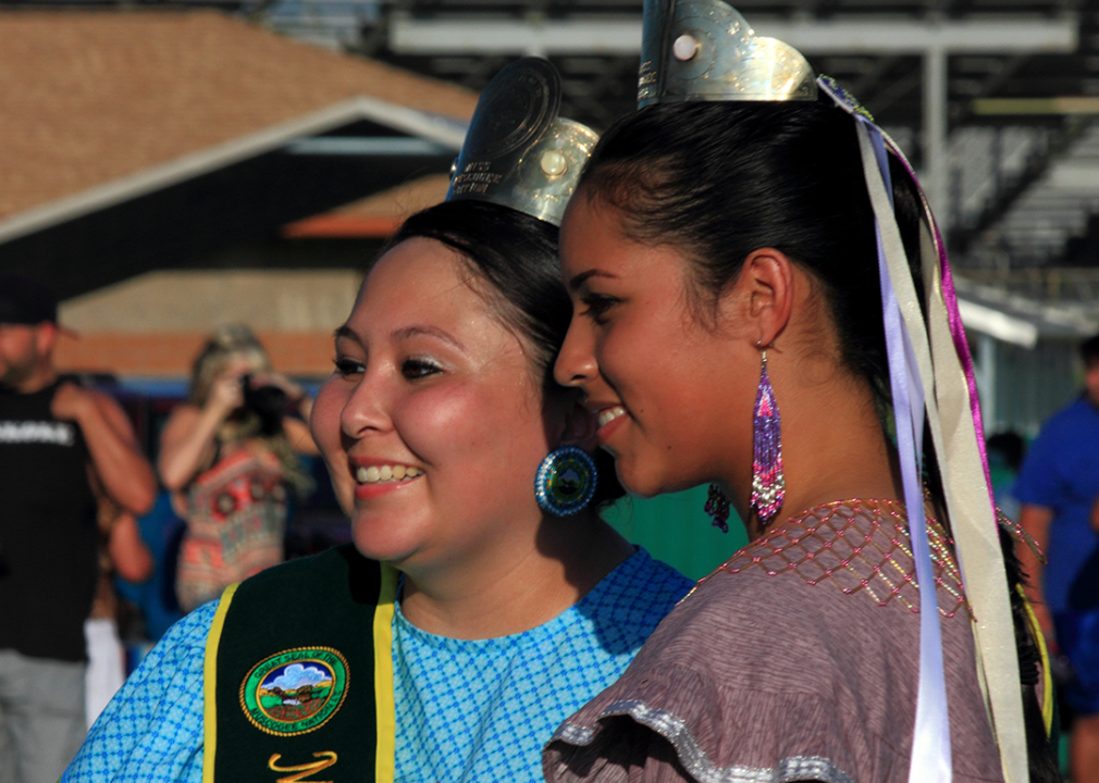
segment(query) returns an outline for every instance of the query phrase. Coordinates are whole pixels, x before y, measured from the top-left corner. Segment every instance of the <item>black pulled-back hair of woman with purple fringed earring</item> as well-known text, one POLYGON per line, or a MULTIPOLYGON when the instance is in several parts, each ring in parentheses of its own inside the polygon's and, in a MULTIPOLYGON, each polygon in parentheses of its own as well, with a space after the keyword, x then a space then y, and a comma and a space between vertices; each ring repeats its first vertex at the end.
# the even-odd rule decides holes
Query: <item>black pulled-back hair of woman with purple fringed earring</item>
MULTIPOLYGON (((920 200, 892 157, 890 174, 897 222, 923 307, 920 200)), ((631 239, 671 245, 685 254, 687 294, 702 323, 713 323, 719 298, 753 250, 774 247, 786 254, 819 286, 818 301, 835 326, 841 361, 869 385, 888 427, 891 394, 874 212, 850 114, 826 98, 651 105, 602 136, 580 188, 579 198, 618 210, 621 228, 631 239)), ((930 433, 924 444, 924 480, 950 529, 930 433)), ((1031 780, 1058 781, 1033 689, 1034 641, 1015 590, 1023 574, 1011 542, 1003 549, 1031 780)))

